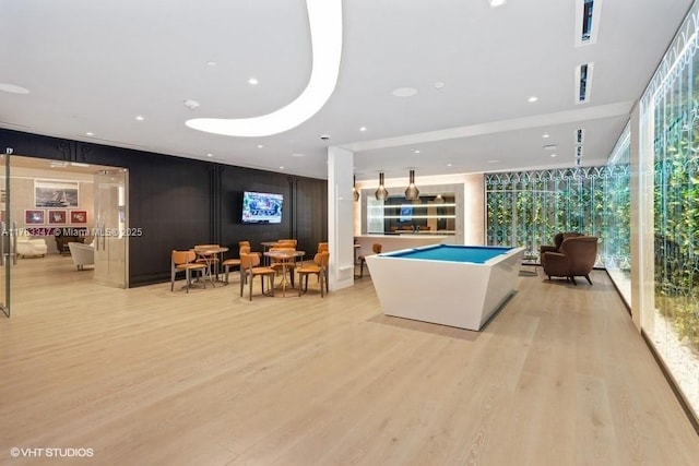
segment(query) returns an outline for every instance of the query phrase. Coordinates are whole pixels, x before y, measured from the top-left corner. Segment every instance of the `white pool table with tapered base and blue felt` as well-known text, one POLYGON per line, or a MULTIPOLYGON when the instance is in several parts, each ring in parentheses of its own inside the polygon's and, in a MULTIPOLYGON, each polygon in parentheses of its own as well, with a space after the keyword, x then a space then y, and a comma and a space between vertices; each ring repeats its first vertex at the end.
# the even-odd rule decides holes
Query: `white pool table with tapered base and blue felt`
POLYGON ((366 262, 384 314, 479 331, 514 292, 524 250, 435 244, 366 262))

